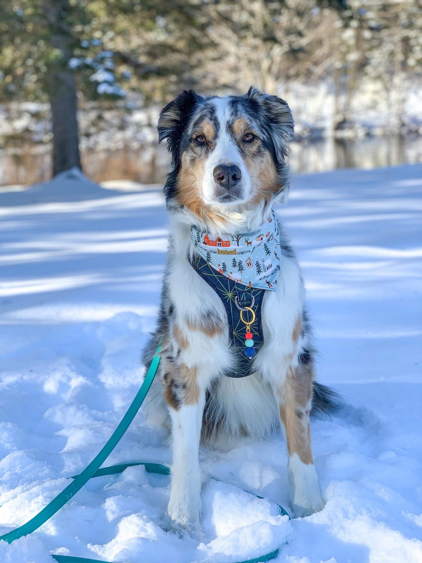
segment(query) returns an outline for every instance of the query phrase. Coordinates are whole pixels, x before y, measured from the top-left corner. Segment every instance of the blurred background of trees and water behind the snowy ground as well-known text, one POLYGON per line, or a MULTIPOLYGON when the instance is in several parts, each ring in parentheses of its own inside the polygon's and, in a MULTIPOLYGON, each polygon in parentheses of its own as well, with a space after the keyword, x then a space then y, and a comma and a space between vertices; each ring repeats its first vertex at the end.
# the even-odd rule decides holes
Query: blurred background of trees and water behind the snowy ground
POLYGON ((163 182, 183 88, 288 101, 294 171, 422 160, 419 0, 2 0, 0 185, 163 182))

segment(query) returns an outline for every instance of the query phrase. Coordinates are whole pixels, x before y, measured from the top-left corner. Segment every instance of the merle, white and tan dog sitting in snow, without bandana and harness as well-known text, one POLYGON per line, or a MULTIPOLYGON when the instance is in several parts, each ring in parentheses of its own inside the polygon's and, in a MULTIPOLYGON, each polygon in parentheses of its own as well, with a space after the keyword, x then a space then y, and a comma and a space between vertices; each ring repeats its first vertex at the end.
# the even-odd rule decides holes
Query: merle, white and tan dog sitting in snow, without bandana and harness
POLYGON ((172 155, 164 187, 170 230, 158 328, 143 353, 147 368, 161 342, 161 361, 144 412, 147 422, 172 435, 170 522, 191 535, 200 529, 200 443, 230 446, 242 436, 262 439, 277 427, 287 442, 294 516, 311 515, 324 500, 309 417, 334 412, 337 404, 335 393, 314 381, 304 284, 289 240, 279 224, 279 279, 275 288, 264 280, 263 345, 248 377, 226 377, 234 361, 228 316, 192 267, 192 225, 214 238, 225 234, 225 244, 233 236, 239 245, 239 233, 259 230, 266 217, 272 221, 273 206, 289 189, 291 111, 284 100, 253 87, 226 97, 190 90, 161 111, 158 132, 172 155))

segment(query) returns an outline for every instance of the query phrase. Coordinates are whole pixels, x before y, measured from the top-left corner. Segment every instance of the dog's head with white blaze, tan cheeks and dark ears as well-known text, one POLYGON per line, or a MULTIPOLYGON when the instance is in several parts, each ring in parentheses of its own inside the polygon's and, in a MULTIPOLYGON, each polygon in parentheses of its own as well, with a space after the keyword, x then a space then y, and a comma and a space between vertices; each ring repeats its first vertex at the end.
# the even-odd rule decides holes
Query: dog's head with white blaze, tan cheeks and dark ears
POLYGON ((161 111, 158 132, 172 154, 169 206, 187 208, 205 224, 263 208, 286 189, 293 118, 276 96, 256 88, 222 98, 185 91, 161 111))

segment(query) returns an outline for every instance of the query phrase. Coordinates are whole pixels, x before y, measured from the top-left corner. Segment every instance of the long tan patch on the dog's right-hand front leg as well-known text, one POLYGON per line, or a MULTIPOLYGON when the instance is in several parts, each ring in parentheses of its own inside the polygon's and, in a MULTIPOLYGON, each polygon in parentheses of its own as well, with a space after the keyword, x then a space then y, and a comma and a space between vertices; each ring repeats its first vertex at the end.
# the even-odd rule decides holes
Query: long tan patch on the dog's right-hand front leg
POLYGON ((309 426, 309 401, 312 397, 312 369, 308 366, 289 367, 279 404, 281 422, 286 428, 289 455, 298 454, 305 464, 313 463, 311 430, 309 426))

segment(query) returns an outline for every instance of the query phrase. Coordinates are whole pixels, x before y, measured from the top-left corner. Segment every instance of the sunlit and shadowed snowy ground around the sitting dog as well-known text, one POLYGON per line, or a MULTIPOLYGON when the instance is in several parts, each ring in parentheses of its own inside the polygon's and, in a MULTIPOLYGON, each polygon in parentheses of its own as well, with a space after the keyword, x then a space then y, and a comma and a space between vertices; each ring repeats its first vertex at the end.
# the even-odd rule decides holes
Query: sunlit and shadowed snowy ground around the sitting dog
MULTIPOLYGON (((288 542, 288 563, 422 561, 422 166, 295 177, 277 212, 302 263, 318 378, 347 406, 313 423, 325 510, 287 521, 279 435, 201 452, 203 542, 160 527, 168 477, 100 477, 0 561, 231 562, 288 542), (260 501, 250 491, 266 497, 260 501)), ((143 378, 167 216, 154 186, 74 179, 0 193, 0 534, 23 524, 110 436, 143 378), (152 253, 158 249, 158 253, 152 253)), ((106 464, 170 463, 138 414, 106 464)))

